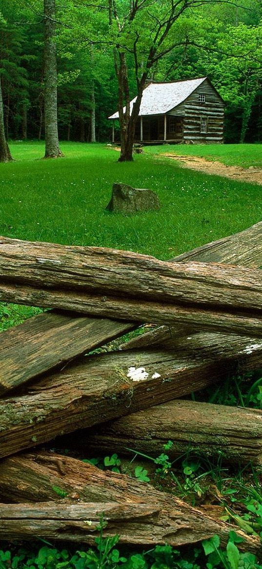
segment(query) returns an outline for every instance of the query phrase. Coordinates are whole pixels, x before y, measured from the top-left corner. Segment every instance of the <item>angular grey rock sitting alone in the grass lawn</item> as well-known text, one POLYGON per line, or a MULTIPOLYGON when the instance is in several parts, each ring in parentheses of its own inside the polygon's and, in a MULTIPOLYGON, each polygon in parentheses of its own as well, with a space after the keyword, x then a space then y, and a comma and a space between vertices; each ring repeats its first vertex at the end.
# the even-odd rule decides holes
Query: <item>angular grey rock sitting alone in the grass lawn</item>
POLYGON ((132 188, 127 184, 113 184, 111 200, 106 209, 117 213, 135 213, 160 209, 159 199, 151 189, 132 188))

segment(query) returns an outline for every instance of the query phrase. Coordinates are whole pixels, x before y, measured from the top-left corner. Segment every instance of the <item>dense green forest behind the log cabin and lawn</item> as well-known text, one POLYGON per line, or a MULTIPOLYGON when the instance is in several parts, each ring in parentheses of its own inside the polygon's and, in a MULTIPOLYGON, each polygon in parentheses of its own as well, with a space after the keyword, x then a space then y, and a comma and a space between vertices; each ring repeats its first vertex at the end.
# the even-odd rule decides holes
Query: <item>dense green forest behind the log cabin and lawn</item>
MULTIPOLYGON (((150 40, 150 6, 164 5, 164 1, 149 3, 143 13, 140 26, 145 42, 150 40)), ((120 2, 120 15, 129 4, 128 0, 120 2)), ((115 38, 106 5, 102 0, 56 3, 60 139, 110 142, 111 122, 107 117, 117 110, 118 84, 115 38)), ((151 26, 152 18, 157 20, 155 8, 150 13, 151 26)), ((0 10, 0 71, 7 139, 40 140, 44 138, 43 2, 2 0, 0 10)), ((261 18, 259 0, 195 2, 174 23, 169 34, 174 47, 156 60, 148 73, 149 81, 209 76, 226 102, 227 143, 262 140, 261 18)), ((122 40, 132 98, 136 95, 136 77, 128 42, 134 42, 134 38, 127 31, 122 40)))

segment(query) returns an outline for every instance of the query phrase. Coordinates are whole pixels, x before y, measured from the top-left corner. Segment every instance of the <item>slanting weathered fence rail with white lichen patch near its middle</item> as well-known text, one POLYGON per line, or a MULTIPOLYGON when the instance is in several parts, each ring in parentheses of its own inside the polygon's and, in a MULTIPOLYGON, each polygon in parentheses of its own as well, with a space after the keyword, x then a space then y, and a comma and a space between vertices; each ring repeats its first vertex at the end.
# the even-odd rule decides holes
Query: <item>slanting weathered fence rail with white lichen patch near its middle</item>
POLYGON ((232 335, 228 343, 228 336, 218 336, 195 335, 169 351, 84 357, 24 393, 0 399, 0 457, 261 367, 262 340, 232 335), (147 379, 132 381, 132 366, 143 366, 147 379), (155 373, 159 377, 152 378, 155 373))

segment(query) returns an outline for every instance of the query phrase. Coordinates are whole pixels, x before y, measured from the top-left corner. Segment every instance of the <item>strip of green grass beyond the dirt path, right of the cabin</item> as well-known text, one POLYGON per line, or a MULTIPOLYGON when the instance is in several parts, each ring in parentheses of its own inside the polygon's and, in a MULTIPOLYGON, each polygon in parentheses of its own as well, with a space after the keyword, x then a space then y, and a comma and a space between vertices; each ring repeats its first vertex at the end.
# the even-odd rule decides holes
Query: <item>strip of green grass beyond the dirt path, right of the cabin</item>
POLYGON ((201 156, 206 160, 218 160, 226 166, 250 166, 262 168, 261 144, 230 145, 161 145, 145 147, 148 154, 172 152, 182 156, 201 156))

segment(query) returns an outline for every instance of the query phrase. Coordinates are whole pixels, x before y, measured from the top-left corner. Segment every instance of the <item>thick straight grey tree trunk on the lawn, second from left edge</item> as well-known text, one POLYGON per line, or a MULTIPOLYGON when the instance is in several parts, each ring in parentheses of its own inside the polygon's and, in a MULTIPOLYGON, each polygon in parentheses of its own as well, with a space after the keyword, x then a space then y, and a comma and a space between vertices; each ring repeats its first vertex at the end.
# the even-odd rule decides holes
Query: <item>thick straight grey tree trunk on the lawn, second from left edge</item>
POLYGON ((57 130, 57 70, 56 70, 55 0, 44 0, 44 158, 63 156, 57 130))

